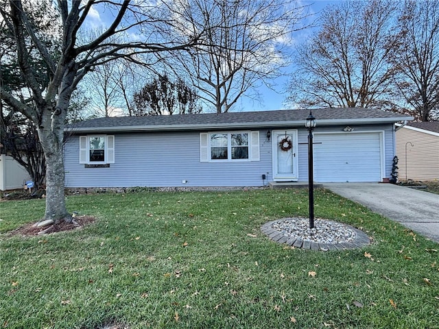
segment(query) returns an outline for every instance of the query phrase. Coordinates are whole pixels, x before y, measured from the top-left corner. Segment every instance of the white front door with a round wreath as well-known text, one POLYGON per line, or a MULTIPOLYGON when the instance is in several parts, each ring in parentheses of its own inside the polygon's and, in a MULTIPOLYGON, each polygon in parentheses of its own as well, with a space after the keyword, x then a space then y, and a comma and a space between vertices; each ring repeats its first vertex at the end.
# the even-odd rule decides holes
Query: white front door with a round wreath
POLYGON ((273 180, 292 182, 298 180, 297 130, 273 130, 273 180))

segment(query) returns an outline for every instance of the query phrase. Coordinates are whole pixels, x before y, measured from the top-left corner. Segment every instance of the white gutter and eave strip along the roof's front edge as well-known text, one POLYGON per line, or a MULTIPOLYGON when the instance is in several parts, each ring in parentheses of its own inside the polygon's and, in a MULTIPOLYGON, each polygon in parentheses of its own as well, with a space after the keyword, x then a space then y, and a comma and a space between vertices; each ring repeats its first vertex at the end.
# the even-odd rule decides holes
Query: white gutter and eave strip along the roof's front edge
MULTIPOLYGON (((411 121, 412 117, 404 118, 368 118, 368 119, 316 119, 317 127, 328 125, 361 125, 395 123, 398 121, 411 121)), ((300 121, 264 121, 264 122, 245 122, 245 123, 209 123, 200 125, 127 125, 117 127, 73 127, 66 128, 65 132, 75 133, 94 133, 94 132, 154 132, 154 131, 188 131, 188 130, 221 130, 221 129, 243 129, 243 128, 268 128, 268 127, 303 127, 305 120, 300 121)))

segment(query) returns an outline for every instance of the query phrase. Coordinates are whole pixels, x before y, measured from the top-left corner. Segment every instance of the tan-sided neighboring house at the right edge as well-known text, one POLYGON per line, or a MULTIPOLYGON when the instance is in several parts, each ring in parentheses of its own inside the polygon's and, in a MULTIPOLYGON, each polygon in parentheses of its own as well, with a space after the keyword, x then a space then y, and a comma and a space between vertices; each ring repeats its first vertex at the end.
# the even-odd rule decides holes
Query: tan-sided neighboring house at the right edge
POLYGON ((439 180, 439 121, 396 124, 399 180, 439 180))

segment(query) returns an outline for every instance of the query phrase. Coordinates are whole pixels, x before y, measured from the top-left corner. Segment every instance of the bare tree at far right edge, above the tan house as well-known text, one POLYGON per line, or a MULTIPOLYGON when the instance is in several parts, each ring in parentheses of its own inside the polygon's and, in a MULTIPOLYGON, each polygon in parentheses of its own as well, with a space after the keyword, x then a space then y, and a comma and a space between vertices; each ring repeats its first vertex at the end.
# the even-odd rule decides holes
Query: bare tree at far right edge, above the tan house
POLYGON ((390 58, 399 74, 401 112, 420 121, 439 119, 439 1, 407 0, 398 20, 397 49, 390 58))

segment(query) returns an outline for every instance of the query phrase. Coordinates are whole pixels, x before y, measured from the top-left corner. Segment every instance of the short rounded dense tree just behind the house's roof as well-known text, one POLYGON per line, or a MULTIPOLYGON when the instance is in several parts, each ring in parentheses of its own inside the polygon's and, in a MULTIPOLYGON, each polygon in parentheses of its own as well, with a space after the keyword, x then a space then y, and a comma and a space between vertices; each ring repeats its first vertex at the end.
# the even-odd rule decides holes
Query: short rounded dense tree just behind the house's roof
POLYGON ((196 114, 202 112, 199 96, 182 78, 172 82, 167 75, 158 75, 134 93, 135 116, 162 114, 196 114))

